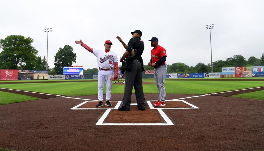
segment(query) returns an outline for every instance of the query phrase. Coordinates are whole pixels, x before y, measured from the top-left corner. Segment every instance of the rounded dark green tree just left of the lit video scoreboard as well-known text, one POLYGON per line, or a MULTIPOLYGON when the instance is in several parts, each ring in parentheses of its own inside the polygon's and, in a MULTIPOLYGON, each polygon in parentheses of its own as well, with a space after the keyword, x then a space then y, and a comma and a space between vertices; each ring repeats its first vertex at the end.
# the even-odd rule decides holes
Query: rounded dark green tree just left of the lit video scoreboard
POLYGON ((72 63, 76 63, 76 53, 73 53, 73 48, 69 45, 60 48, 54 57, 55 68, 57 67, 58 57, 58 74, 63 74, 63 66, 71 66, 72 63))

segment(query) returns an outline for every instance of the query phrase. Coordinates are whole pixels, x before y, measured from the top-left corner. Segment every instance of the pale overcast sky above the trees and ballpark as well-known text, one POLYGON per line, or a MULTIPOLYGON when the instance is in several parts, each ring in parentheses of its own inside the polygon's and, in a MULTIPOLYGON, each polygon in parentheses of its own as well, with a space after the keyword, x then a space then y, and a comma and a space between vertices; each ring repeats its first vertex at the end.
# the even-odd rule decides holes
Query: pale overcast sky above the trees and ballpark
POLYGON ((124 47, 116 40, 120 36, 128 43, 131 31, 139 29, 145 49, 144 64, 150 60, 151 37, 159 39, 167 51, 167 64, 176 62, 195 66, 211 63, 211 30, 213 61, 226 60, 241 54, 260 58, 264 53, 263 0, 11 0, 1 1, 0 39, 22 35, 34 40, 32 45, 48 64, 54 67, 54 55, 60 47, 70 45, 76 53, 76 63, 84 69, 97 68, 96 57, 75 40, 83 40, 91 48, 104 49, 111 40, 111 50, 120 58, 124 47))

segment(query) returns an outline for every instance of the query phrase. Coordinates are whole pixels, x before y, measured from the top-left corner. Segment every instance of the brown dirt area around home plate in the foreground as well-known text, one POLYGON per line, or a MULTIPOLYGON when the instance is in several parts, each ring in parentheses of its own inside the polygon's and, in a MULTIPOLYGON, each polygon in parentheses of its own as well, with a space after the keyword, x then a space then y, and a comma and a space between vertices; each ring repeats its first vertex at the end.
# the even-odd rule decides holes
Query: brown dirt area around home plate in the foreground
MULTIPOLYGON (((146 100, 156 100, 157 96, 145 94, 146 100)), ((112 95, 111 102, 116 104, 114 101, 122 97, 112 95)), ((97 95, 78 98, 96 100, 97 95)), ((264 101, 211 95, 166 95, 166 99, 178 98, 198 108, 162 109, 173 125, 96 125, 106 109, 71 110, 85 101, 72 98, 1 105, 0 147, 15 150, 264 149, 264 101), (186 98, 190 96, 195 97, 186 98)), ((131 103, 136 103, 134 95, 131 103)), ((168 102, 167 106, 183 107, 175 102, 168 102)), ((90 108, 89 104, 86 107, 90 108)), ((146 112, 136 106, 131 106, 130 110, 111 109, 105 122, 124 122, 127 117, 126 120, 132 122, 164 123, 157 109, 150 109, 148 104, 146 112)))

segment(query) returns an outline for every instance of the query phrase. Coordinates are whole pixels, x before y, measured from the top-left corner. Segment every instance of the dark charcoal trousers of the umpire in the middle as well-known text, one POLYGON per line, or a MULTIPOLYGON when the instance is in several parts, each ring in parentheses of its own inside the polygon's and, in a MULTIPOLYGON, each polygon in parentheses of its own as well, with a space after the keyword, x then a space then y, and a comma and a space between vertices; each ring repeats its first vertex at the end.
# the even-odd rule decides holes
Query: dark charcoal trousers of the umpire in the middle
POLYGON ((130 70, 126 70, 125 81, 125 92, 122 108, 124 110, 130 110, 131 95, 134 86, 137 107, 140 109, 145 109, 146 102, 142 87, 141 63, 139 61, 133 61, 132 68, 130 70))

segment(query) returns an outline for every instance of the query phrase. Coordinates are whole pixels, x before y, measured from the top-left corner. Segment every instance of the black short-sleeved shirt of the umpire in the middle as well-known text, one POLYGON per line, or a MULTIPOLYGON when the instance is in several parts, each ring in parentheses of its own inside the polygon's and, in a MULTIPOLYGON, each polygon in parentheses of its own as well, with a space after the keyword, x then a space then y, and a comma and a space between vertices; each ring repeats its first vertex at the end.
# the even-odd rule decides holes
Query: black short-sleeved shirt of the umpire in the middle
POLYGON ((134 37, 129 40, 127 44, 127 51, 131 54, 132 49, 137 50, 133 60, 140 59, 144 50, 144 42, 140 39, 140 37, 134 37))

